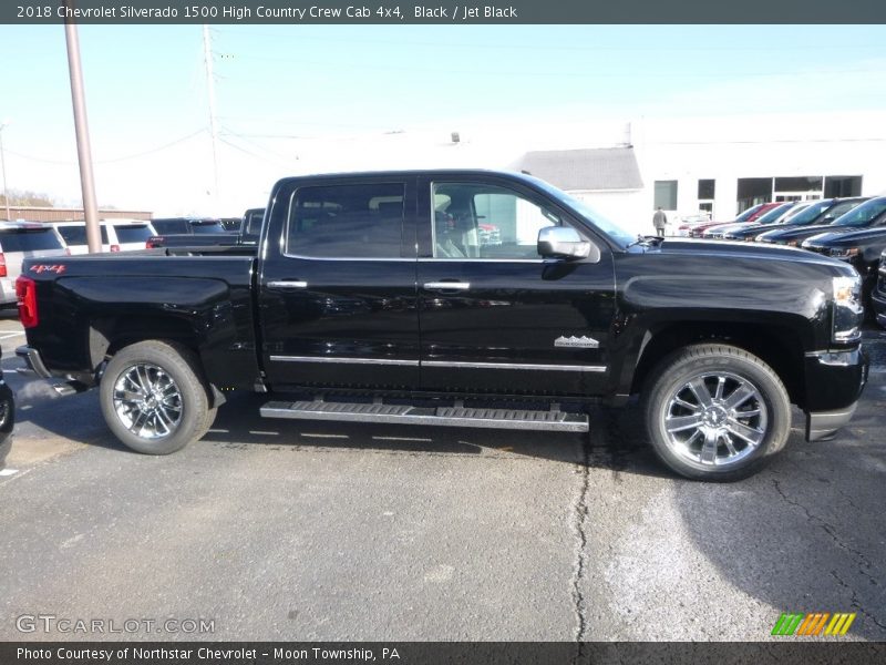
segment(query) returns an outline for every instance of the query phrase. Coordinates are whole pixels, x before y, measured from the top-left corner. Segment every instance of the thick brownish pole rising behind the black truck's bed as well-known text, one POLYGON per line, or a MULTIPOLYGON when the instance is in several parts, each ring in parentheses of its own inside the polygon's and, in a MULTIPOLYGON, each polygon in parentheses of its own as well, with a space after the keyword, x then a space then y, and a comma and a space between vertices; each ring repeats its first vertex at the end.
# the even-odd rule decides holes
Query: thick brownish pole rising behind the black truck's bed
MULTIPOLYGON (((64 0, 65 9, 73 8, 73 0, 64 0)), ((64 37, 68 42, 68 69, 71 74, 71 100, 74 106, 76 156, 80 162, 80 187, 83 192, 83 216, 86 218, 86 243, 90 254, 101 254, 102 234, 99 229, 99 207, 95 203, 95 182, 92 177, 92 149, 90 147, 89 121, 86 120, 86 99, 83 92, 83 71, 80 66, 80 40, 73 19, 65 18, 64 37)))

